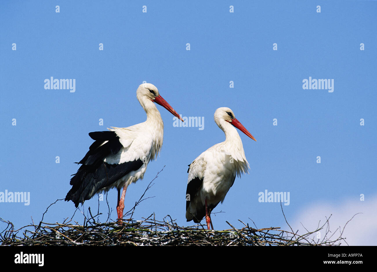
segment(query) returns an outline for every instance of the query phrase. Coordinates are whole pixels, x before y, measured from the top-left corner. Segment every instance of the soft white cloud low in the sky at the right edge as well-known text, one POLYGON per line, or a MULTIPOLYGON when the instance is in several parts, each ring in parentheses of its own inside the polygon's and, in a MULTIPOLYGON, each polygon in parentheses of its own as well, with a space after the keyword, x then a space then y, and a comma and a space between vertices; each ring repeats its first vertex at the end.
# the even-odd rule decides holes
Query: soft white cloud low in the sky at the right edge
MULTIPOLYGON (((343 238, 346 238, 346 242, 350 246, 377 245, 377 195, 369 196, 369 199, 368 195, 366 195, 365 201, 357 199, 344 200, 339 203, 321 202, 313 204, 303 208, 303 210, 299 212, 293 220, 288 221, 288 223, 292 222, 290 225, 294 231, 299 229, 299 234, 304 234, 307 233, 307 231, 305 231, 303 226, 305 226, 308 231, 314 231, 317 229, 318 222, 321 221, 320 226, 322 226, 323 223, 326 222, 325 217, 328 218, 330 215, 329 229, 332 233, 334 233, 339 226, 342 231, 347 221, 355 215, 346 225, 342 235, 343 238), (359 212, 362 212, 362 214, 357 214, 359 212)), ((321 230, 322 238, 323 235, 325 235, 325 227, 321 230)), ((331 240, 335 240, 339 237, 339 234, 338 229, 333 237, 331 237, 331 240)), ((315 234, 314 237, 316 237, 316 235, 317 234, 315 234)), ((341 245, 347 244, 342 241, 341 245)))

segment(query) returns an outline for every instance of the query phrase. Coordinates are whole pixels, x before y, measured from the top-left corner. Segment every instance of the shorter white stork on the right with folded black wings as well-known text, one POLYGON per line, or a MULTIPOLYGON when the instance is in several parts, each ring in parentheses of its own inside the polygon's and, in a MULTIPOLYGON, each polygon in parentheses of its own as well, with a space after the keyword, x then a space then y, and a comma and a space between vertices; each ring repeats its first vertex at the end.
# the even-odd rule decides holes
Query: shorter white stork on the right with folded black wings
MULTIPOLYGON (((215 122, 225 133, 225 141, 213 145, 199 155, 190 165, 186 190, 186 219, 199 223, 205 216, 210 229, 211 211, 224 201, 233 185, 236 175, 248 172, 249 164, 245 157, 238 128, 256 141, 253 135, 234 117, 230 108, 218 108, 215 122), (236 128, 234 128, 236 127, 236 128)), ((213 226, 212 226, 213 229, 213 226)))

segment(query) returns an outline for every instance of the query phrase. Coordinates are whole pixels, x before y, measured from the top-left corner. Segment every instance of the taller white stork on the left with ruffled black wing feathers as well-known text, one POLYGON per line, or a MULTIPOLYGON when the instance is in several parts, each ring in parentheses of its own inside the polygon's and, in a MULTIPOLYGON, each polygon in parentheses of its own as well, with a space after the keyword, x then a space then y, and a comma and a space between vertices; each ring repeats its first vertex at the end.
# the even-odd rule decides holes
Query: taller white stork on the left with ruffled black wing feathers
POLYGON ((153 84, 141 84, 136 90, 136 97, 147 113, 147 121, 130 127, 112 127, 107 128, 109 131, 89 133, 95 142, 90 145, 85 157, 77 163, 82 165, 77 173, 72 175, 69 183, 72 189, 65 198, 66 201, 72 200, 76 208, 79 203, 84 203, 96 193, 115 187, 118 189, 116 211, 118 219, 121 220, 127 186, 143 179, 148 162, 156 158, 162 147, 164 123, 153 102, 181 119, 159 95, 153 84))

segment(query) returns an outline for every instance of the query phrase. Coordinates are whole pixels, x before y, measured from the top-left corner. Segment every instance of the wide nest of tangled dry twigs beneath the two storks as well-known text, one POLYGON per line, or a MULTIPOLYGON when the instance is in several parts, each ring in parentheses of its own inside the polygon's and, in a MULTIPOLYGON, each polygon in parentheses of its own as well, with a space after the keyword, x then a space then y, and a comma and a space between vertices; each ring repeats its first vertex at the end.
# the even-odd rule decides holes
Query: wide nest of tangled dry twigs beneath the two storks
MULTIPOLYGON (((153 214, 152 214, 153 215, 153 214)), ((292 245, 339 245, 339 237, 335 240, 323 238, 314 241, 309 236, 297 235, 282 231, 279 228, 254 229, 245 225, 242 229, 232 228, 223 231, 204 229, 204 225, 180 227, 170 218, 170 222, 151 219, 123 223, 86 222, 83 225, 67 223, 43 223, 40 226, 29 225, 34 231, 14 230, 11 222, 0 234, 1 245, 98 245, 98 246, 292 246, 292 245), (21 233, 20 233, 21 232, 21 233)), ((167 217, 170 217, 169 215, 167 217)))

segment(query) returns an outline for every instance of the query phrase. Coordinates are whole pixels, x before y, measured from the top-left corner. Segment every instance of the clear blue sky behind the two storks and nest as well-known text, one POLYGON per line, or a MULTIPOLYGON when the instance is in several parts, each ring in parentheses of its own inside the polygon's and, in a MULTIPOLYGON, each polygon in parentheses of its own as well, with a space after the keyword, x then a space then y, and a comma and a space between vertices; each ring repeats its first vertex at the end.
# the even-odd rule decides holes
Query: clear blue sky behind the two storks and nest
MULTIPOLYGON (((145 121, 136 89, 147 81, 182 116, 204 117, 204 129, 173 127, 173 115, 157 106, 165 126, 161 156, 127 189, 125 211, 166 167, 146 194, 155 197, 134 219, 155 212, 156 219, 169 214, 192 225, 185 220, 187 165, 224 141, 213 114, 230 107, 257 142, 239 131, 251 169, 213 211, 223 211, 212 216, 216 229, 230 228, 225 221, 241 228, 238 219, 288 229, 280 203, 258 201, 268 190, 290 193, 283 207, 294 229, 307 222, 314 230, 333 214, 335 230, 363 212, 346 237, 375 244, 376 12, 374 1, 2 1, 0 192, 29 192, 30 205, 1 202, 0 217, 16 227, 31 217, 39 222, 71 188, 74 162, 92 144, 89 132, 145 121), (51 76, 75 79, 75 92, 44 89, 51 76), (333 92, 303 89, 309 77, 334 79, 333 92)), ((116 190, 107 198, 114 209, 116 190)), ((97 210, 98 198, 84 211, 88 206, 97 210)), ((61 201, 44 221, 61 222, 74 211, 61 201)), ((106 202, 100 211, 104 222, 106 202)), ((74 219, 83 222, 81 214, 74 219)))

